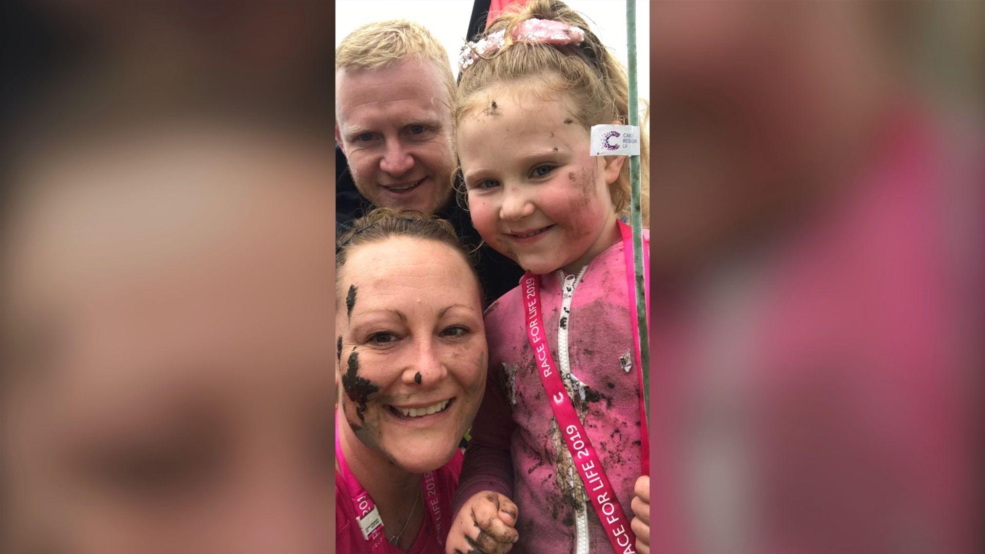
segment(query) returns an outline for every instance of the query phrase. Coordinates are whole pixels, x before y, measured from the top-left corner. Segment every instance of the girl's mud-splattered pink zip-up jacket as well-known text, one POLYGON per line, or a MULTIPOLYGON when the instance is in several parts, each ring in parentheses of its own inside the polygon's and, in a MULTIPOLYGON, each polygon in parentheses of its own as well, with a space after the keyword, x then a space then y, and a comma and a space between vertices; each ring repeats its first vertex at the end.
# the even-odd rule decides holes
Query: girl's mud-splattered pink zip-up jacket
MULTIPOLYGON (((644 240, 649 247, 645 230, 644 240)), ((540 279, 551 355, 624 514, 632 519, 629 503, 642 474, 642 437, 623 242, 599 254, 580 278, 558 270, 540 279)), ((513 552, 611 552, 558 433, 527 341, 525 312, 519 287, 486 312, 489 378, 454 512, 472 495, 495 491, 519 509, 520 538, 513 552)))

